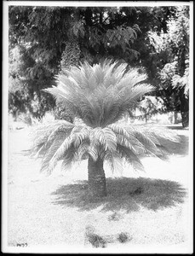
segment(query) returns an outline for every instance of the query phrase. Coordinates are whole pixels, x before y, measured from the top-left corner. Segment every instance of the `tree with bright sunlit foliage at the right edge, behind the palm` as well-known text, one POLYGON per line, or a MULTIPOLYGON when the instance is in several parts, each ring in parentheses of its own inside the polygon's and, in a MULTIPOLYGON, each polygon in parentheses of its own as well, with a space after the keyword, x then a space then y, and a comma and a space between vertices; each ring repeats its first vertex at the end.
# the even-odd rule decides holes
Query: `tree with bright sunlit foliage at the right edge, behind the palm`
POLYGON ((141 10, 138 20, 143 25, 138 25, 142 33, 135 40, 141 53, 139 61, 146 68, 148 82, 158 88, 156 96, 163 98, 167 111, 181 112, 185 127, 189 103, 189 7, 141 10))

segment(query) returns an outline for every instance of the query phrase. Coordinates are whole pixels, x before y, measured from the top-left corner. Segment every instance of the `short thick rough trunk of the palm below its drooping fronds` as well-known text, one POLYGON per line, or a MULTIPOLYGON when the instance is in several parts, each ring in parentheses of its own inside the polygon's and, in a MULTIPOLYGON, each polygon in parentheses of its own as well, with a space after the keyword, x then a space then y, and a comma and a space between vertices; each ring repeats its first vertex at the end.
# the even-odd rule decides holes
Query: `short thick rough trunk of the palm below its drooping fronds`
POLYGON ((106 177, 103 169, 103 160, 94 161, 89 156, 88 162, 88 189, 89 197, 106 196, 106 177))

